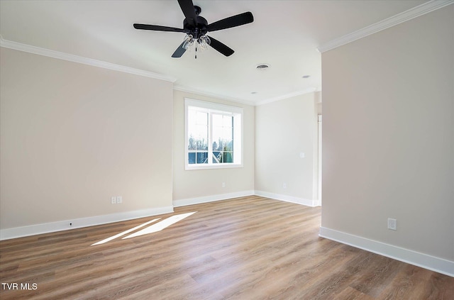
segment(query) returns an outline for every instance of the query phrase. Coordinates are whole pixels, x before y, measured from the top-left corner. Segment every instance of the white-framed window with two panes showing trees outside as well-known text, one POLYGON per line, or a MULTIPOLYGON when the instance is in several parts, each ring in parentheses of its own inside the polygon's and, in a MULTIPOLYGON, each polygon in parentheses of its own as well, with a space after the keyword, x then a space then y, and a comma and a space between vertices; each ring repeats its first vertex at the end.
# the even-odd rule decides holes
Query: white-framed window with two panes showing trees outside
POLYGON ((184 99, 186 170, 242 167, 243 109, 184 99))

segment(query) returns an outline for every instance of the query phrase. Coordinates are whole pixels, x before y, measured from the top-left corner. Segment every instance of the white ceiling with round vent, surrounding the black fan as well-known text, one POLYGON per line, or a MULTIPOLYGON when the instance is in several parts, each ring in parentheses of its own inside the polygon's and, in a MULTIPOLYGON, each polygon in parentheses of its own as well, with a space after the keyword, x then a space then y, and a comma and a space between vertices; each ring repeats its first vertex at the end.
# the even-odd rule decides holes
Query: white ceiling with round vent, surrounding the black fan
POLYGON ((233 55, 209 48, 197 59, 194 52, 172 58, 184 33, 133 28, 133 23, 182 28, 177 0, 1 0, 0 34, 4 41, 163 74, 176 79, 176 89, 260 104, 321 90, 317 48, 426 2, 193 1, 209 23, 253 13, 253 23, 209 33, 235 50, 233 55), (262 63, 270 68, 256 70, 262 63))

